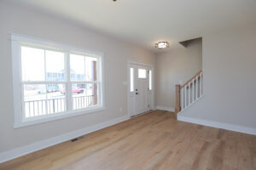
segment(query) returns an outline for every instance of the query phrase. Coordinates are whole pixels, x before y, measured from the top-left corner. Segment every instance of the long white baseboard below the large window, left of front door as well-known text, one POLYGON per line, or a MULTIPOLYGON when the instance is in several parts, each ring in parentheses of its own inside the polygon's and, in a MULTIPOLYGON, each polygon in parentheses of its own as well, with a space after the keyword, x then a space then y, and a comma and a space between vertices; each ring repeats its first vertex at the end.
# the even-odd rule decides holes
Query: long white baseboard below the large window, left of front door
POLYGON ((33 144, 28 144, 28 145, 25 145, 25 146, 21 146, 19 148, 16 148, 15 150, 4 151, 4 152, 0 153, 0 163, 2 163, 4 161, 9 161, 9 160, 15 159, 16 157, 25 156, 26 154, 32 153, 34 151, 42 150, 44 148, 47 148, 47 147, 55 145, 55 144, 60 144, 60 143, 65 142, 67 140, 77 138, 77 137, 82 136, 84 134, 95 132, 95 131, 100 130, 100 129, 105 128, 105 127, 110 127, 114 124, 117 124, 119 122, 124 122, 128 119, 130 119, 129 116, 123 116, 123 117, 115 118, 111 121, 99 123, 99 124, 96 124, 96 125, 93 125, 93 126, 90 126, 90 127, 85 127, 85 128, 80 129, 78 131, 62 134, 60 136, 56 136, 56 137, 51 138, 51 139, 46 139, 46 140, 39 141, 39 142, 36 142, 36 143, 33 143, 33 144))

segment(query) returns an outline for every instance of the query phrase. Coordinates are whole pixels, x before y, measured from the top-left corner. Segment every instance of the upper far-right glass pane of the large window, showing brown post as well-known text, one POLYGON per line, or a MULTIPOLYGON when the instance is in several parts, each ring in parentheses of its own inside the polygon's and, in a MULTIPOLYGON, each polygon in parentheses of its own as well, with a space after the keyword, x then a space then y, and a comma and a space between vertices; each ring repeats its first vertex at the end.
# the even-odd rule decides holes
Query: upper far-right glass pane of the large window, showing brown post
POLYGON ((97 80, 97 59, 94 57, 85 57, 85 80, 97 80))

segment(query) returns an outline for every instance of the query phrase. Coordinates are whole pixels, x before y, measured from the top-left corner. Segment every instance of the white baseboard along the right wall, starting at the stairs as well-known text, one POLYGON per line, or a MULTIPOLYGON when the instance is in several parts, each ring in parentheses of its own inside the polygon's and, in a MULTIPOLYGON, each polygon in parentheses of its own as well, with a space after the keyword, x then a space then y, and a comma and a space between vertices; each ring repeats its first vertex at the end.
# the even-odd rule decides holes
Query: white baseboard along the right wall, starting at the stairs
POLYGON ((248 133, 248 134, 256 135, 256 128, 252 128, 252 127, 241 127, 238 125, 232 125, 232 124, 223 123, 223 122, 212 122, 212 121, 196 119, 196 118, 187 117, 187 116, 181 116, 179 114, 177 114, 177 120, 182 122, 192 122, 192 123, 204 125, 207 127, 217 127, 217 128, 230 130, 230 131, 239 132, 239 133, 248 133))

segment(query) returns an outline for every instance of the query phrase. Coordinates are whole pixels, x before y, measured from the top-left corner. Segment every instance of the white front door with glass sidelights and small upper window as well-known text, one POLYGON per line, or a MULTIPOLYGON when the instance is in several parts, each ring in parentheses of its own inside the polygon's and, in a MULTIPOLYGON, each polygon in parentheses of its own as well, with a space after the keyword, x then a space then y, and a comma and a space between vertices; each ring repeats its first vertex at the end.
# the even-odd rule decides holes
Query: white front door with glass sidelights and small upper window
POLYGON ((152 109, 152 68, 130 65, 130 116, 152 109))

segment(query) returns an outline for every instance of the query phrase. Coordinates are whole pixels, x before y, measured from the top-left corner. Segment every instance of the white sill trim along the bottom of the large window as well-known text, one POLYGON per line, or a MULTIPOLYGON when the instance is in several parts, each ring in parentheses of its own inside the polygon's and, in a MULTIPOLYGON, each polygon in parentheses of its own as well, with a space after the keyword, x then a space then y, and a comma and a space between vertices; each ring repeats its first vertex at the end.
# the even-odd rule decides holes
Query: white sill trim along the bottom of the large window
POLYGON ((97 107, 90 108, 90 109, 79 110, 79 111, 70 111, 70 112, 60 113, 60 114, 56 114, 56 115, 50 115, 50 116, 40 118, 40 119, 29 120, 29 121, 25 121, 25 122, 15 122, 14 128, 28 127, 28 126, 32 126, 32 125, 36 125, 36 124, 40 124, 40 123, 44 123, 44 122, 52 122, 52 121, 56 121, 56 120, 61 120, 61 119, 67 118, 67 117, 86 115, 89 113, 104 111, 105 109, 106 109, 105 107, 97 106, 97 107))

